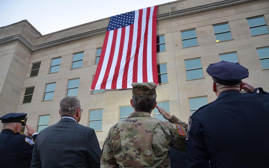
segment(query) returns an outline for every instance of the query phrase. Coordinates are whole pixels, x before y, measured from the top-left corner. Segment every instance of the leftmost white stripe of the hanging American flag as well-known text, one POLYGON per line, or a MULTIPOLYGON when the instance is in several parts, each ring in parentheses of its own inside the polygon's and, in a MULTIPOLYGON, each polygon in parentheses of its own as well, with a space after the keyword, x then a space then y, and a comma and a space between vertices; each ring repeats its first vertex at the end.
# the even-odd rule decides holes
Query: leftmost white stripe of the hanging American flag
POLYGON ((106 67, 107 67, 108 58, 110 55, 111 44, 112 44, 112 39, 113 39, 113 33, 114 33, 114 30, 109 32, 107 46, 106 46, 106 53, 105 53, 104 61, 102 64, 101 72, 100 72, 98 81, 97 81, 96 86, 95 86, 95 90, 100 89, 105 72, 106 72, 106 67))

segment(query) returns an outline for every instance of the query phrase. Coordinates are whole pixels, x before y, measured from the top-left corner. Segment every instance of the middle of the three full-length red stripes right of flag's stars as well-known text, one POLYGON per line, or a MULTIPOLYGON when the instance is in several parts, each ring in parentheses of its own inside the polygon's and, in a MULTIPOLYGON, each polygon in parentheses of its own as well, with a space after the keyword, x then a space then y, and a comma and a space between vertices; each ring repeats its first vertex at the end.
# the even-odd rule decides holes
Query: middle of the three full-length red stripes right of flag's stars
POLYGON ((146 15, 146 29, 144 33, 144 44, 143 44, 143 82, 148 82, 148 70, 147 70, 147 46, 148 46, 148 22, 150 19, 150 7, 147 8, 146 15))

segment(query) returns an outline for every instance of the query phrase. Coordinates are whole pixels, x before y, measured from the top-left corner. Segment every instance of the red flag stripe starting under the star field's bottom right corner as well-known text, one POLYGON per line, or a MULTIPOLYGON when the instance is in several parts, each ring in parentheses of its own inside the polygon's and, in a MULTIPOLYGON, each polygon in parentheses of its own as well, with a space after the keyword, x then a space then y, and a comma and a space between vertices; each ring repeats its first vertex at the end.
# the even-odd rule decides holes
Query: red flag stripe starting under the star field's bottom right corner
POLYGON ((129 62, 130 62, 131 51, 132 51, 133 34, 134 34, 134 25, 130 25, 128 49, 127 49, 126 62, 125 62, 124 72, 123 72, 123 77, 122 77, 122 88, 127 88, 127 77, 128 77, 129 62))

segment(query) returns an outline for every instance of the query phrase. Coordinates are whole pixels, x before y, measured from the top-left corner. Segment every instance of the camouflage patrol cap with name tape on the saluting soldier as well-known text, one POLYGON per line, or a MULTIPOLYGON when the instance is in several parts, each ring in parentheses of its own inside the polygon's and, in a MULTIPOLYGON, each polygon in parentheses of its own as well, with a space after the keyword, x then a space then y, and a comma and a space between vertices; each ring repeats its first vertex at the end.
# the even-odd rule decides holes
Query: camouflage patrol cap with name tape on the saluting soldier
POLYGON ((133 98, 151 100, 155 98, 157 85, 153 82, 148 83, 132 83, 133 98))

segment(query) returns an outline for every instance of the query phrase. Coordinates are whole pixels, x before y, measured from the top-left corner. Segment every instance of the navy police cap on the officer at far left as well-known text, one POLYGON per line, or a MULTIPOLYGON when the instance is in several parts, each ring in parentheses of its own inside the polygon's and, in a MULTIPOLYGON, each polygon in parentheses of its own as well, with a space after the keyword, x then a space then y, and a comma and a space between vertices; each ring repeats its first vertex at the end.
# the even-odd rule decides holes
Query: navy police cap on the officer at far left
POLYGON ((8 122, 21 122, 22 126, 25 126, 26 113, 8 113, 0 118, 2 123, 8 122))

